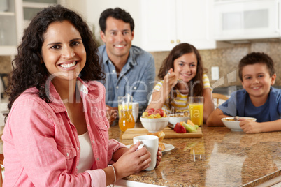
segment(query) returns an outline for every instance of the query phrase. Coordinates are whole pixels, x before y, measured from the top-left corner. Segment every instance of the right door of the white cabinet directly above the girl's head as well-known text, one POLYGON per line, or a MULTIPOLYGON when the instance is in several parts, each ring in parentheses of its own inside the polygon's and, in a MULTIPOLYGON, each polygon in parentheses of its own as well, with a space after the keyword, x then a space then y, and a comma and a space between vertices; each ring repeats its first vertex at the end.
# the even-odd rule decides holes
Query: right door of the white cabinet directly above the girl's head
POLYGON ((177 0, 177 40, 197 49, 215 48, 212 9, 213 0, 177 0))

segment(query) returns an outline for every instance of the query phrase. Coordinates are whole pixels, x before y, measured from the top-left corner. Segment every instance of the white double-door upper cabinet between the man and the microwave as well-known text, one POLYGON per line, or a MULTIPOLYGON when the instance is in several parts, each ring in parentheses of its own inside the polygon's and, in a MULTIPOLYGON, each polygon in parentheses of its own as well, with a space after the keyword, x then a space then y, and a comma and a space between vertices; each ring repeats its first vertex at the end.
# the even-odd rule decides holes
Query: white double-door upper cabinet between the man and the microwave
POLYGON ((215 48, 212 8, 213 0, 142 0, 141 47, 170 51, 190 43, 199 50, 215 48))

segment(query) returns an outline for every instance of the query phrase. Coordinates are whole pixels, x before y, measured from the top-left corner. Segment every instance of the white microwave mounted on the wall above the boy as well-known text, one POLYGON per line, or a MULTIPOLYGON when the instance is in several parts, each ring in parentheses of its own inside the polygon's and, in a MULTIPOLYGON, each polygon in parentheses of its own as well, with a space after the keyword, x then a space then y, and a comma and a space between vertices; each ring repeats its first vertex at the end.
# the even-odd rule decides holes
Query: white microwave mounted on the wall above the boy
POLYGON ((215 40, 280 38, 279 0, 215 1, 215 40))

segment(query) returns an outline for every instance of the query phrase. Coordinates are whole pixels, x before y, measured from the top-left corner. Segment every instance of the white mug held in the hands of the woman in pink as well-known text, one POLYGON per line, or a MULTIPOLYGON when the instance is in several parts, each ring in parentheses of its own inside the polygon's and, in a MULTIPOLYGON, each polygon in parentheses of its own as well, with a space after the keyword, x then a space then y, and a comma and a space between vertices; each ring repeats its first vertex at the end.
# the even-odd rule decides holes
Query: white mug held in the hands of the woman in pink
POLYGON ((140 135, 133 138, 134 144, 140 141, 141 144, 138 146, 138 149, 145 147, 147 151, 150 152, 151 163, 150 166, 145 170, 153 170, 157 163, 157 151, 158 151, 158 136, 156 135, 140 135))

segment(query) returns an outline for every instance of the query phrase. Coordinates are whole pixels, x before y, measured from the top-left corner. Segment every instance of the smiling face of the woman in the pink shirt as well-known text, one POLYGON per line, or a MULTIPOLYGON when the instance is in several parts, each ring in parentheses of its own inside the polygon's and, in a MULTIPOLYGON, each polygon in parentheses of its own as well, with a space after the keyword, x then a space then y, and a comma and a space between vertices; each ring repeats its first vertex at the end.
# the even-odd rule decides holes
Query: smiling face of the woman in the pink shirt
POLYGON ((43 36, 42 57, 50 75, 56 79, 75 79, 86 63, 79 31, 68 21, 53 22, 43 36))

